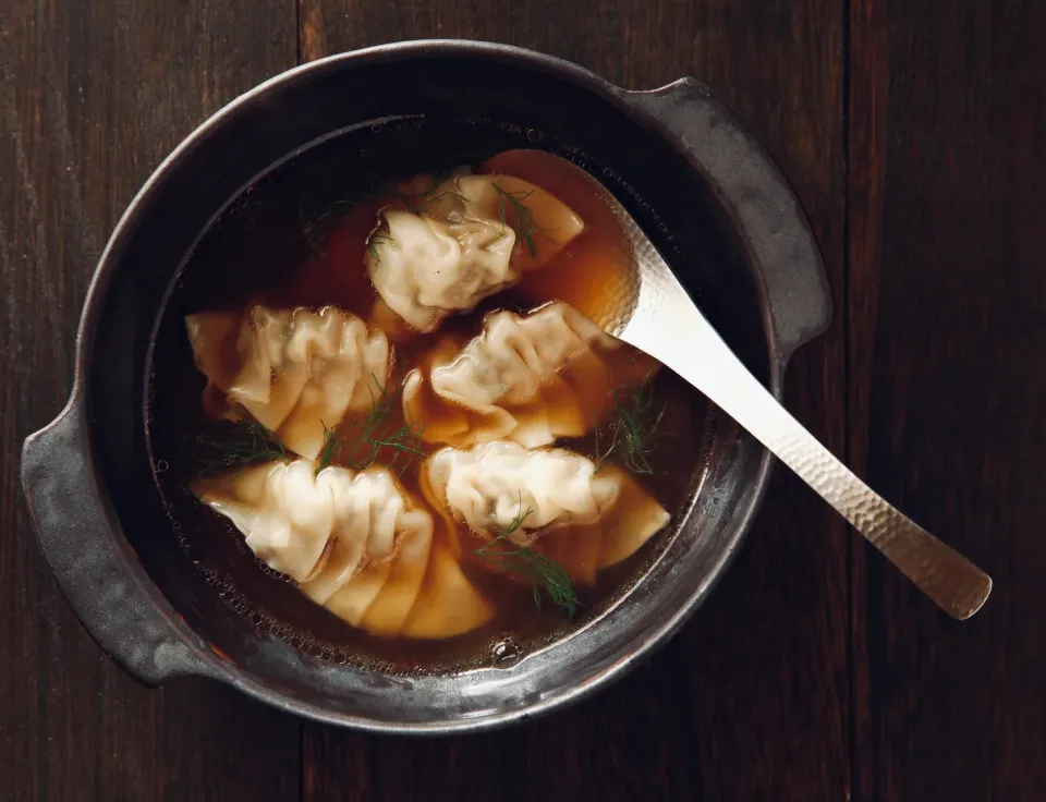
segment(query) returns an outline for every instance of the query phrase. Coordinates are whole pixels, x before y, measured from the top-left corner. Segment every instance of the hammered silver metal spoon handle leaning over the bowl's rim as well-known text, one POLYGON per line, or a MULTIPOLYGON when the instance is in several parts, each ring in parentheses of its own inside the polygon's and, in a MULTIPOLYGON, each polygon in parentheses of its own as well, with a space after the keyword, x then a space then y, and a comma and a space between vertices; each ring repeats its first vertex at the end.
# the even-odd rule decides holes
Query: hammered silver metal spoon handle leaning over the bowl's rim
POLYGON ((645 351, 701 390, 881 551, 942 610, 959 620, 981 609, 992 578, 887 503, 781 406, 741 364, 632 216, 600 184, 585 177, 613 208, 638 264, 633 302, 604 328, 645 351))

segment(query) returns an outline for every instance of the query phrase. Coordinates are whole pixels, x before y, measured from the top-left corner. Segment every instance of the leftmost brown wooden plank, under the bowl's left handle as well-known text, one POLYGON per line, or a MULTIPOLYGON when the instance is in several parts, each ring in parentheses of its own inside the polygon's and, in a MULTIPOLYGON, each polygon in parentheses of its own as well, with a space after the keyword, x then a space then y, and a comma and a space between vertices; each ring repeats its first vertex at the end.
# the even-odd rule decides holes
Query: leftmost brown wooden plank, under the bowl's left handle
POLYGON ((292 0, 0 0, 0 799, 299 792, 295 719, 203 682, 148 691, 105 657, 17 489, 118 215, 194 125, 295 56, 292 0))

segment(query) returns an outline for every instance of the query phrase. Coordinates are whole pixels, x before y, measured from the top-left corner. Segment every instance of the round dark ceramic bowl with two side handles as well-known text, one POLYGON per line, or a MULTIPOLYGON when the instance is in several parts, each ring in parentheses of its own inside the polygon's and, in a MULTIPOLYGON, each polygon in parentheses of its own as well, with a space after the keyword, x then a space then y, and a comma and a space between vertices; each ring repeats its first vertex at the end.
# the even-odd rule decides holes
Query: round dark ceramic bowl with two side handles
POLYGON ((146 440, 151 349, 171 288, 200 233, 244 187, 339 132, 403 116, 483 126, 504 149, 544 148, 588 170, 777 397, 792 352, 828 324, 823 267, 794 195, 696 81, 625 92, 557 59, 465 41, 378 47, 269 81, 195 131, 131 204, 84 306, 69 405, 23 452, 51 570, 101 647, 143 682, 210 677, 370 730, 518 721, 581 698, 664 642, 707 596, 752 521, 770 458, 728 420, 710 420, 705 442, 694 443, 704 459, 694 461, 686 514, 629 593, 515 665, 450 675, 332 665, 258 630, 203 581, 171 532, 146 440))

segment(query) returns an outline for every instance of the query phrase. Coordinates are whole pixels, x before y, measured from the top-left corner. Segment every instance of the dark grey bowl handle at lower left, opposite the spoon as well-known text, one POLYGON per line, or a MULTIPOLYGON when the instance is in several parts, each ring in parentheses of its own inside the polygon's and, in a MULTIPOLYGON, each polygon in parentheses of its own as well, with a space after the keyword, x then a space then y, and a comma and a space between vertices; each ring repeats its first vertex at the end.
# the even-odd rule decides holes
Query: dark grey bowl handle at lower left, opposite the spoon
POLYGON ((101 500, 78 394, 22 448, 22 487, 44 558, 87 631, 136 680, 217 677, 206 643, 149 581, 101 500))

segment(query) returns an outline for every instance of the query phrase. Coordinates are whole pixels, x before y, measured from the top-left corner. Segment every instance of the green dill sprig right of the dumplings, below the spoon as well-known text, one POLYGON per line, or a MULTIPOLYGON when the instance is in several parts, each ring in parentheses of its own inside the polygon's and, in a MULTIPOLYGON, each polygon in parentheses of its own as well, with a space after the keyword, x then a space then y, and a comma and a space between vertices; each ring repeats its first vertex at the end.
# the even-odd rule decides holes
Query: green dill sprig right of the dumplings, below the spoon
POLYGON ((653 369, 642 379, 634 377, 613 391, 609 441, 596 429, 596 471, 608 462, 619 461, 632 473, 654 473, 650 454, 657 446, 665 408, 654 408, 652 374, 653 369))

